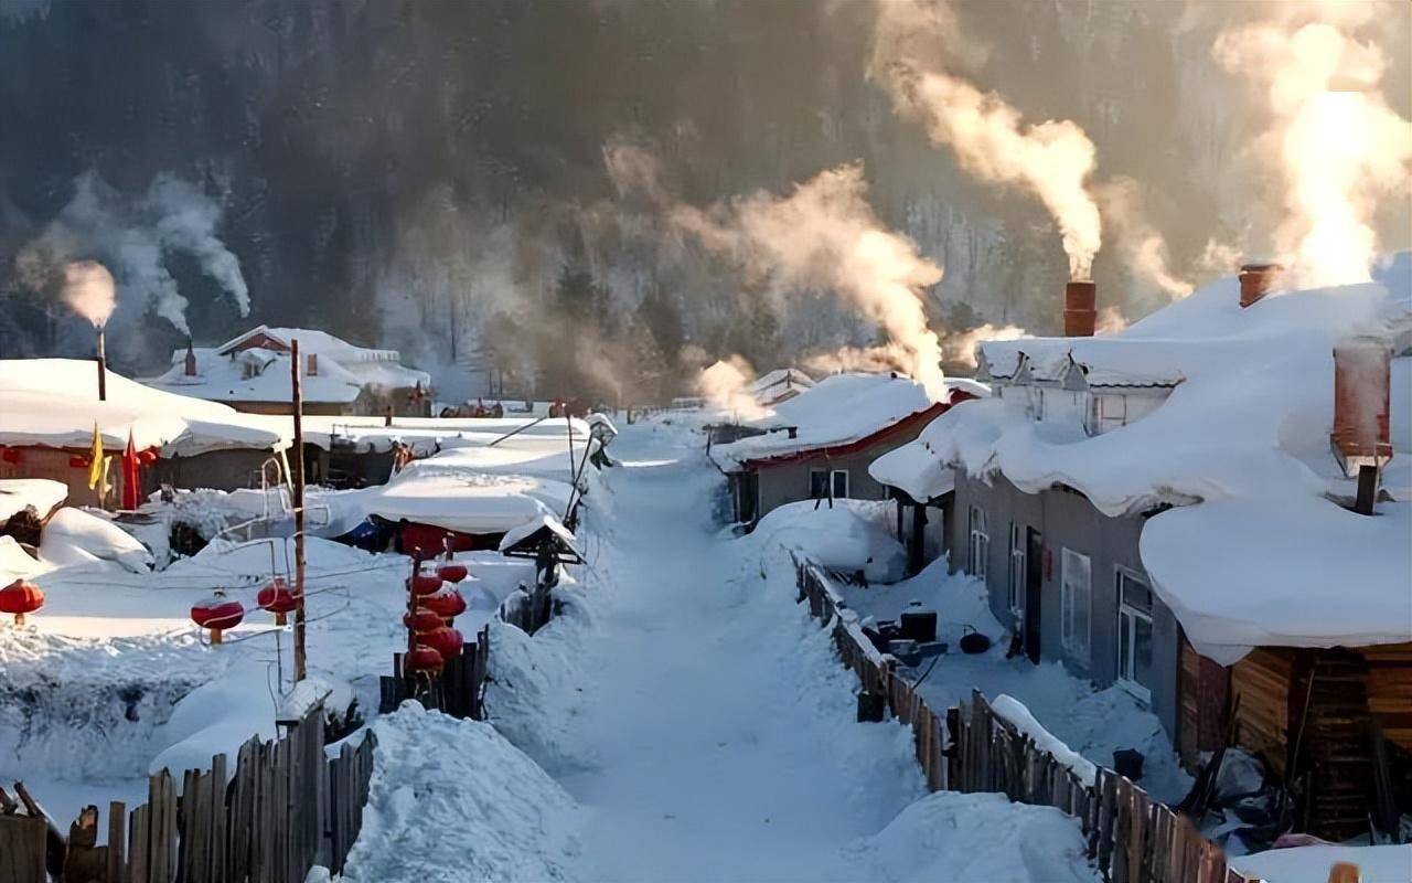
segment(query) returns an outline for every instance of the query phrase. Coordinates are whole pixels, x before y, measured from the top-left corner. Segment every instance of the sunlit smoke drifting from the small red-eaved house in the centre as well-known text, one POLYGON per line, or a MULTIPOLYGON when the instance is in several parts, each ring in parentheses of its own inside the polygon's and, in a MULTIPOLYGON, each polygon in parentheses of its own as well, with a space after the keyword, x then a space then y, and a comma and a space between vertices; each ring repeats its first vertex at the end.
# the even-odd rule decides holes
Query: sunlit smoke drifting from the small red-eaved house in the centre
POLYGON ((775 297, 836 291, 885 332, 887 343, 868 350, 875 365, 911 374, 933 400, 945 397, 940 342, 923 304, 942 270, 882 226, 860 165, 820 172, 788 196, 757 192, 706 211, 678 205, 669 218, 775 297))

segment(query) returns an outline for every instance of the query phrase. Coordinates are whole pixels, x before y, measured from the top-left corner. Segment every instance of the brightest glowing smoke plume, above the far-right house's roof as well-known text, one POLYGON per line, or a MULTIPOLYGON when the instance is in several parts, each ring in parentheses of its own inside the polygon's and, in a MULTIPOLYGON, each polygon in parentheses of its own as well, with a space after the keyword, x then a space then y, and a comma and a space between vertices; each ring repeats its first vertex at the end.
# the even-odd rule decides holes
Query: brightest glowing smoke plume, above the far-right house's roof
POLYGON ((1262 90, 1269 122, 1252 146, 1275 161, 1285 213, 1274 230, 1298 287, 1367 281, 1384 196, 1405 196, 1412 123, 1388 106, 1380 45, 1361 40, 1388 6, 1269 4, 1267 18, 1221 31, 1216 61, 1262 90))

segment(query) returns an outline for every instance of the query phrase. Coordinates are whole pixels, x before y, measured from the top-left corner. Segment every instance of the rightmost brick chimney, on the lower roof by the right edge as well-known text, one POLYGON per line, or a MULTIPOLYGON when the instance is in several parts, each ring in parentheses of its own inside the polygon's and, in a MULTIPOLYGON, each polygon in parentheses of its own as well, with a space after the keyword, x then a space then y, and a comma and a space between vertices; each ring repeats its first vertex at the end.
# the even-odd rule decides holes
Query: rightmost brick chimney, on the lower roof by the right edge
POLYGON ((1388 410, 1392 349, 1374 338, 1333 348, 1333 451, 1344 475, 1360 466, 1381 469, 1392 458, 1388 410))

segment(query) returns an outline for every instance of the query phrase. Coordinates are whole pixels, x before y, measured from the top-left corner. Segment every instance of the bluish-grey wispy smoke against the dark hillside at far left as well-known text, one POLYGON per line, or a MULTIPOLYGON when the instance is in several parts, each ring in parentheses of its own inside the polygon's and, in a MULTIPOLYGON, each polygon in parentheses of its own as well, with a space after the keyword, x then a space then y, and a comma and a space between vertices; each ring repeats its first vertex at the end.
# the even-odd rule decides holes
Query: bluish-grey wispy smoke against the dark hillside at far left
POLYGON ((96 172, 85 172, 75 181, 69 203, 20 250, 16 267, 27 285, 45 290, 72 260, 100 257, 116 277, 119 305, 151 309, 191 333, 186 298, 165 264, 169 253, 191 254, 240 315, 250 312, 240 263, 215 233, 219 222, 215 201, 171 175, 158 175, 141 198, 124 199, 96 172))

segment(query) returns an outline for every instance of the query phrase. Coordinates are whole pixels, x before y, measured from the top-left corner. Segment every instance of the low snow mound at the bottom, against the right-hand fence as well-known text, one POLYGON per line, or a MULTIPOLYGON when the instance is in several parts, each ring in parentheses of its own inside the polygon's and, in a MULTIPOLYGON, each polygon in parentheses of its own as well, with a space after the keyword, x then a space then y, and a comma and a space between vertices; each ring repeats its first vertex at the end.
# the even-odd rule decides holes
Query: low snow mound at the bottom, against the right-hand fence
POLYGON ((1003 794, 938 791, 844 852, 867 860, 875 880, 1099 880, 1079 824, 1053 807, 1012 804, 1003 794))

